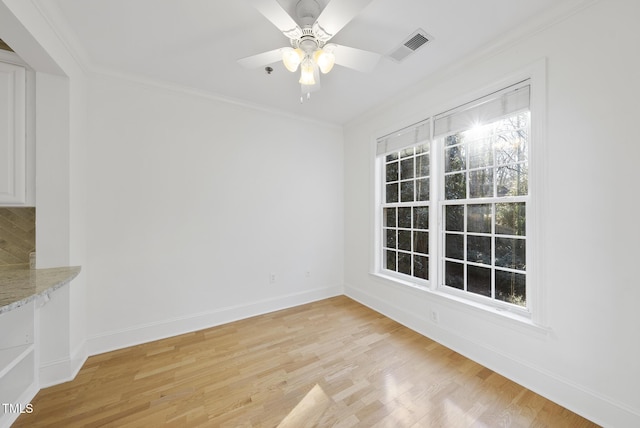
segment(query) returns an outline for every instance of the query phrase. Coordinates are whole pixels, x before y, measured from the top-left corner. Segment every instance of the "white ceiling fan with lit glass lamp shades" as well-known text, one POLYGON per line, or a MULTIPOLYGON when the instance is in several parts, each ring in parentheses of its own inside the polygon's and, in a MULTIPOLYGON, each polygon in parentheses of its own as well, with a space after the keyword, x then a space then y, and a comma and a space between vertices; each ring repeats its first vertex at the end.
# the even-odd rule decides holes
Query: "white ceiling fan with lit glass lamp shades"
MULTIPOLYGON (((362 49, 329 43, 372 0, 330 0, 324 10, 316 0, 299 0, 298 21, 277 0, 248 0, 290 41, 290 46, 239 59, 246 68, 257 68, 282 61, 287 70, 300 69, 300 86, 307 99, 320 89, 320 73, 326 74, 334 64, 357 71, 373 70, 380 55, 362 49)), ((303 96, 300 101, 304 100, 303 96)))

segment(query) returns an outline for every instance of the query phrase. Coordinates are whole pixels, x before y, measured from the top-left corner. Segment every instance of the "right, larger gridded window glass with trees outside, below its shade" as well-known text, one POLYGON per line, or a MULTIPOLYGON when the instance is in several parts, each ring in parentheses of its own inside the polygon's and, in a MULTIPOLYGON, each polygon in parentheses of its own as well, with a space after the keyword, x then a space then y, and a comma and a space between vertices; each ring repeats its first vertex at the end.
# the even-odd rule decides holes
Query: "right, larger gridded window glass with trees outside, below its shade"
POLYGON ((528 111, 442 139, 441 285, 526 307, 528 111))

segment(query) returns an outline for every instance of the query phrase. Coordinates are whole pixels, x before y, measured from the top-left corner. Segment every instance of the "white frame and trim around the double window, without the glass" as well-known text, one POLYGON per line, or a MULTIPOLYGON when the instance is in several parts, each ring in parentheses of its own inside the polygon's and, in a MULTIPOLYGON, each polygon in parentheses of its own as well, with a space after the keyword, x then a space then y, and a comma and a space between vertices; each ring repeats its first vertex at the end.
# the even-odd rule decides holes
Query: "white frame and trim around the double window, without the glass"
MULTIPOLYGON (((528 187, 529 195, 527 202, 527 308, 519 308, 515 305, 501 304, 500 302, 487 302, 486 299, 476 299, 469 292, 456 291, 451 292, 449 287, 443 289, 439 287, 441 284, 442 276, 444 275, 444 269, 442 268, 443 262, 443 238, 442 238, 442 224, 443 216, 439 214, 442 210, 443 198, 441 197, 442 188, 441 179, 443 177, 443 159, 441 159, 442 148, 437 145, 440 144, 438 140, 431 141, 431 199, 429 201, 429 280, 422 281, 417 278, 408 277, 406 275, 394 275, 392 272, 383 269, 384 262, 382 257, 384 256, 383 246, 383 234, 382 234, 382 203, 384 192, 382 191, 384 186, 384 177, 382 177, 384 156, 376 154, 373 151, 374 156, 374 183, 375 183, 375 211, 373 216, 374 229, 374 247, 372 251, 372 271, 371 273, 378 278, 382 278, 385 282, 390 284, 399 284, 403 286, 410 286, 423 290, 427 294, 436 294, 444 297, 450 301, 458 302, 463 305, 472 306, 482 310, 487 310, 492 313, 502 314, 508 318, 513 318, 519 321, 524 321, 529 324, 545 327, 548 324, 548 304, 546 293, 546 280, 545 269, 540 263, 541 242, 544 239, 543 230, 541 227, 543 208, 546 205, 544 198, 546 195, 546 171, 545 171, 545 158, 546 158, 546 60, 541 59, 535 63, 521 69, 518 72, 511 74, 510 76, 500 79, 491 85, 487 85, 477 91, 468 93, 462 97, 457 97, 447 105, 440 108, 432 109, 433 112, 446 112, 451 109, 455 109, 464 104, 470 103, 473 100, 480 99, 500 91, 504 88, 529 80, 531 87, 529 111, 531 112, 531 126, 530 126, 530 142, 529 142, 529 154, 528 154, 528 187)), ((413 120, 401 124, 395 129, 406 128, 407 123, 416 123, 421 120, 431 119, 432 132, 430 137, 433 136, 433 123, 434 118, 438 114, 425 114, 422 117, 414 117, 413 120)), ((379 133, 378 135, 390 134, 390 131, 386 133, 379 133)))

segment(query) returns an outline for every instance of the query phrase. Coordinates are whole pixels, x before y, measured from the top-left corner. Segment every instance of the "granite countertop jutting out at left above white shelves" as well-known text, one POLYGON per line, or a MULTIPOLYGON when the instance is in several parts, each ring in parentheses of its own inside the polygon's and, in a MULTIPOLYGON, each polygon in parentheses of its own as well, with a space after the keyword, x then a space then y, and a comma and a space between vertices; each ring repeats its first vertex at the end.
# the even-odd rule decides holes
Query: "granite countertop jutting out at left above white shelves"
POLYGON ((80 266, 29 269, 29 265, 0 267, 0 314, 57 290, 80 273, 80 266))

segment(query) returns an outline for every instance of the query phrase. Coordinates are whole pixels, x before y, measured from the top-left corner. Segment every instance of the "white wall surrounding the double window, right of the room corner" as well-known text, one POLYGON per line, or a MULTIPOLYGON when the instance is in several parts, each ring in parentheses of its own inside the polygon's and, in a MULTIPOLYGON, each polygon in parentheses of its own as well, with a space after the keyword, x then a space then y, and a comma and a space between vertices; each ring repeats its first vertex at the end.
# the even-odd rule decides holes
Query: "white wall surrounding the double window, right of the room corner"
POLYGON ((345 129, 346 293, 605 426, 640 426, 640 3, 601 0, 449 70, 345 129), (546 57, 540 242, 551 332, 369 274, 373 139, 546 57), (439 324, 429 321, 437 310, 439 324))

